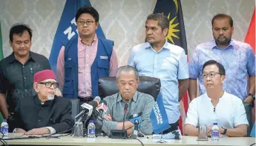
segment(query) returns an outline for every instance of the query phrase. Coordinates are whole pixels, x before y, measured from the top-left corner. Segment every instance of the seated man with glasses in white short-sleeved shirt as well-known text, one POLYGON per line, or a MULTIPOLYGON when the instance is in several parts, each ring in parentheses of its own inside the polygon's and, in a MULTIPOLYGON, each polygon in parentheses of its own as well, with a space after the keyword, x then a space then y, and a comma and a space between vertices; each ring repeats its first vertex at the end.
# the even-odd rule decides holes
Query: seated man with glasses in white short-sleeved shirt
POLYGON ((246 136, 249 125, 246 110, 241 99, 223 90, 226 78, 223 65, 209 60, 203 64, 202 78, 207 92, 189 104, 184 133, 197 136, 197 126, 207 125, 211 131, 217 122, 223 135, 246 136))

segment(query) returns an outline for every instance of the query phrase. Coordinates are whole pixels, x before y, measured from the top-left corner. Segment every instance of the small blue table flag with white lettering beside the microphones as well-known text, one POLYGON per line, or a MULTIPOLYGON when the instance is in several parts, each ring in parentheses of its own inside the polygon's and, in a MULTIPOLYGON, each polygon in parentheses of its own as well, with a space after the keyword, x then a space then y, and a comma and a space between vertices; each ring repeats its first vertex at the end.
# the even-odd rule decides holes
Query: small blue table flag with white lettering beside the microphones
POLYGON ((164 130, 171 127, 168 122, 161 92, 158 93, 157 101, 155 102, 154 108, 150 114, 150 119, 155 134, 162 133, 164 130))

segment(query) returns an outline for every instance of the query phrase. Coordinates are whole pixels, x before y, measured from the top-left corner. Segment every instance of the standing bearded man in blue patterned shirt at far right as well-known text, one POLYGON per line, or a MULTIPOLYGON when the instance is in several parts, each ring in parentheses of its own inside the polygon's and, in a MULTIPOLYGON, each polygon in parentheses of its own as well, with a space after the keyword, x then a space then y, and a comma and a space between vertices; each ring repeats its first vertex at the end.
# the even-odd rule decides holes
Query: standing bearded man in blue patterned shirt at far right
POLYGON ((226 69, 223 89, 239 97, 243 102, 252 102, 255 96, 255 54, 252 47, 232 39, 234 27, 231 16, 217 14, 211 20, 211 24, 214 39, 197 45, 189 62, 190 99, 197 97, 197 78, 200 95, 206 93, 202 67, 205 62, 214 59, 226 69))

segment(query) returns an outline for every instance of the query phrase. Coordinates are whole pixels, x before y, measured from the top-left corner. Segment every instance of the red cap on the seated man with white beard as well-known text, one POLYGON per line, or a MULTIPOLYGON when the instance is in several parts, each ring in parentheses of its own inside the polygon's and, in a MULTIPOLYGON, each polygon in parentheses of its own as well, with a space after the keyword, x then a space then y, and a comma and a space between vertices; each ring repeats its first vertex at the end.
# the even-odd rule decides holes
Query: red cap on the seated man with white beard
POLYGON ((34 82, 41 82, 45 79, 55 79, 56 80, 53 70, 42 70, 42 71, 35 73, 35 75, 34 75, 34 82))

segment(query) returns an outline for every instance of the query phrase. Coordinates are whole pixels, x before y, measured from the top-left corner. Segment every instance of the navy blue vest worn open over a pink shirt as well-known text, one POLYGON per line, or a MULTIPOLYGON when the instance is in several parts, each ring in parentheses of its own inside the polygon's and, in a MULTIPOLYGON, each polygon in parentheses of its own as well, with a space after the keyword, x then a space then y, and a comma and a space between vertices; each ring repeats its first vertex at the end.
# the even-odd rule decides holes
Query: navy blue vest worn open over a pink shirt
MULTIPOLYGON (((69 99, 78 98, 78 38, 73 37, 65 44, 65 77, 62 94, 69 99)), ((98 82, 100 77, 109 76, 110 60, 114 42, 108 39, 98 39, 96 57, 91 65, 92 96, 98 96, 98 82)))

